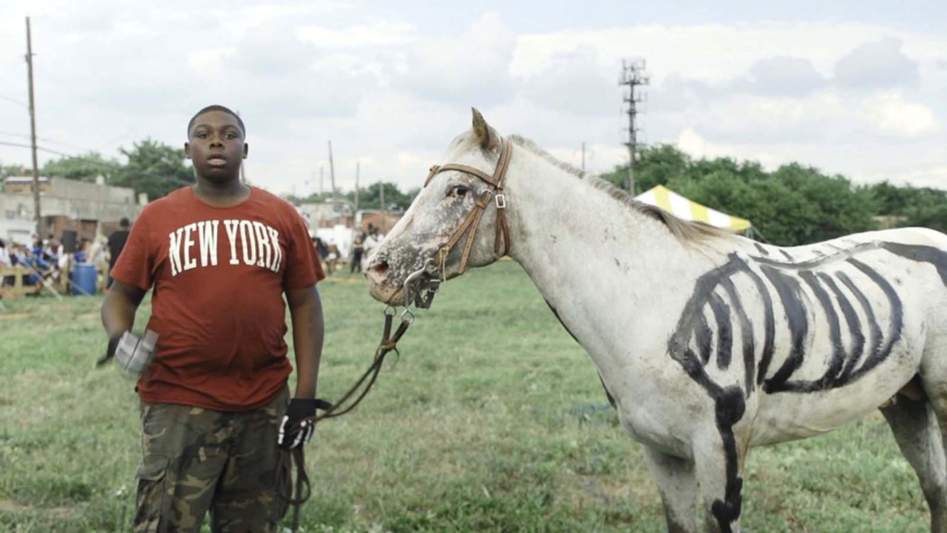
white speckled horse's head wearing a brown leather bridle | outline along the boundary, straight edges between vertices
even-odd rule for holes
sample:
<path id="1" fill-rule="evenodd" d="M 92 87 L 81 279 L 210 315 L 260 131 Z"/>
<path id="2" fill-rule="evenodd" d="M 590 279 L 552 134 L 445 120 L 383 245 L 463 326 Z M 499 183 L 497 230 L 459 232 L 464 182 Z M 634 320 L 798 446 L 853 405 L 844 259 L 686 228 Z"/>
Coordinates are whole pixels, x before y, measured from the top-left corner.
<path id="1" fill-rule="evenodd" d="M 446 163 L 431 168 L 402 220 L 368 258 L 366 277 L 376 299 L 411 304 L 432 280 L 461 275 L 507 252 L 503 186 L 512 147 L 473 111 L 473 129 L 456 137 Z M 405 290 L 412 293 L 408 301 Z"/>

